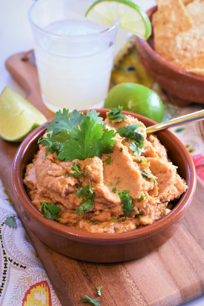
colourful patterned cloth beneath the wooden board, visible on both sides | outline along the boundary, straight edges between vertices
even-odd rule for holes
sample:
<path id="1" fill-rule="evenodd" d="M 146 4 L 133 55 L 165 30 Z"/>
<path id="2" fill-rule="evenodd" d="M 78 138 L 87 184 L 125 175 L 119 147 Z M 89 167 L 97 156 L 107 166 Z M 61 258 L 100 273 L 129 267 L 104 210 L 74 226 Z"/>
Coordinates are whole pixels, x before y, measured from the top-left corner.
<path id="1" fill-rule="evenodd" d="M 202 109 L 193 104 L 181 108 L 170 103 L 159 86 L 144 71 L 135 48 L 126 55 L 112 74 L 115 84 L 137 82 L 156 91 L 165 103 L 165 120 Z M 197 174 L 204 181 L 203 122 L 171 129 L 185 144 L 194 160 Z M 61 306 L 35 250 L 26 234 L 0 181 L 0 305 L 1 306 Z M 17 228 L 6 225 L 14 216 Z"/>

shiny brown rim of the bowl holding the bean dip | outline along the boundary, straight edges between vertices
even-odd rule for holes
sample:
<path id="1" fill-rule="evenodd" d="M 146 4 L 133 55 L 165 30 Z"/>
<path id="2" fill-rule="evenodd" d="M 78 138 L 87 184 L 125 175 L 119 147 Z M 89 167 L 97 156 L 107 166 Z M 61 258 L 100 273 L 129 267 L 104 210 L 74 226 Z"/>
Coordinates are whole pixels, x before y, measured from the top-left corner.
<path id="1" fill-rule="evenodd" d="M 86 110 L 82 111 L 86 112 Z M 100 114 L 105 115 L 108 109 L 96 109 L 96 111 L 100 112 Z M 123 113 L 134 116 L 138 118 L 140 121 L 143 120 L 147 121 L 148 122 L 148 124 L 146 124 L 147 126 L 156 123 L 155 121 L 139 114 L 134 114 L 128 111 L 123 111 Z M 64 224 L 44 218 L 43 214 L 32 204 L 31 200 L 28 198 L 28 195 L 25 192 L 23 179 L 20 173 L 20 168 L 22 166 L 21 165 L 22 157 L 26 154 L 28 147 L 32 145 L 34 141 L 39 139 L 40 136 L 42 136 L 43 132 L 45 131 L 44 126 L 49 122 L 50 121 L 47 121 L 43 125 L 36 128 L 24 139 L 24 141 L 20 144 L 19 149 L 17 150 L 12 165 L 13 188 L 20 205 L 30 216 L 30 218 L 32 218 L 33 220 L 35 220 L 35 222 L 45 227 L 47 230 L 52 231 L 55 234 L 57 233 L 61 236 L 67 237 L 68 239 L 71 240 L 83 241 L 87 243 L 109 244 L 109 243 L 124 243 L 135 240 L 141 240 L 161 232 L 166 227 L 176 222 L 181 217 L 181 215 L 183 215 L 184 211 L 186 211 L 187 207 L 191 203 L 196 187 L 194 163 L 191 159 L 189 152 L 187 151 L 186 147 L 182 144 L 182 142 L 172 132 L 166 130 L 165 131 L 166 137 L 173 138 L 175 146 L 178 146 L 180 148 L 180 151 L 183 152 L 184 162 L 186 163 L 188 169 L 186 174 L 187 175 L 186 180 L 188 184 L 187 191 L 182 195 L 180 201 L 169 215 L 143 228 L 126 233 L 114 233 L 114 234 L 84 232 L 82 230 L 76 230 L 69 226 L 65 226 Z"/>

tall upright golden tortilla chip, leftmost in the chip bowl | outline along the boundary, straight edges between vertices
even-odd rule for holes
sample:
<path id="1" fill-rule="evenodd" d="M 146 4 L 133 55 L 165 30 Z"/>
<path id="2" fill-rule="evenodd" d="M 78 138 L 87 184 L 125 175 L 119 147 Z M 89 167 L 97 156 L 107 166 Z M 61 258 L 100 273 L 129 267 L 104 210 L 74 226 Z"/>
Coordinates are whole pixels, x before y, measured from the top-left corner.
<path id="1" fill-rule="evenodd" d="M 172 40 L 180 32 L 193 26 L 192 18 L 182 0 L 159 1 L 158 10 L 152 18 L 155 51 L 168 61 L 174 58 L 170 52 Z"/>

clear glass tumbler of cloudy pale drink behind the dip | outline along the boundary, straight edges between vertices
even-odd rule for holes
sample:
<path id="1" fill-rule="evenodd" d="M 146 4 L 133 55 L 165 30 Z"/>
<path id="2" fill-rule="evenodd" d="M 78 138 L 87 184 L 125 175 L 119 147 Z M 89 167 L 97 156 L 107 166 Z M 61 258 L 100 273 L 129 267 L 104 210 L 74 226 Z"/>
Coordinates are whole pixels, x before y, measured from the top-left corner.
<path id="1" fill-rule="evenodd" d="M 38 0 L 29 9 L 42 99 L 54 112 L 91 108 L 107 95 L 118 21 L 88 21 L 92 2 Z"/>

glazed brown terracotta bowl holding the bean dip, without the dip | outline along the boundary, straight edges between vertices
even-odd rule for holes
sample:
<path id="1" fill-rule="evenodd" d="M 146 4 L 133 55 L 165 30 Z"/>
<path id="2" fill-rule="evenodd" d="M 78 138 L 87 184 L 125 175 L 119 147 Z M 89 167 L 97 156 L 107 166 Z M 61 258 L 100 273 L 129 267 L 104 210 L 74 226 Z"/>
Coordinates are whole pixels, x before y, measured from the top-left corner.
<path id="1" fill-rule="evenodd" d="M 105 118 L 107 109 L 96 110 Z M 86 111 L 83 111 L 86 113 Z M 138 118 L 146 126 L 155 121 L 138 114 L 123 112 Z M 48 121 L 50 122 L 50 121 Z M 38 150 L 37 141 L 45 132 L 41 125 L 29 134 L 20 145 L 13 161 L 12 179 L 17 200 L 23 217 L 33 233 L 46 245 L 67 256 L 93 262 L 119 262 L 143 256 L 164 244 L 178 229 L 184 212 L 195 193 L 195 167 L 191 156 L 180 140 L 169 131 L 158 132 L 161 143 L 167 148 L 173 164 L 178 166 L 178 173 L 188 185 L 172 212 L 154 224 L 127 233 L 98 234 L 76 230 L 48 220 L 28 198 L 23 177 L 25 168 L 32 161 Z"/>

